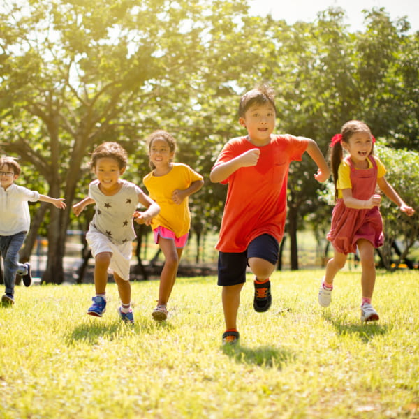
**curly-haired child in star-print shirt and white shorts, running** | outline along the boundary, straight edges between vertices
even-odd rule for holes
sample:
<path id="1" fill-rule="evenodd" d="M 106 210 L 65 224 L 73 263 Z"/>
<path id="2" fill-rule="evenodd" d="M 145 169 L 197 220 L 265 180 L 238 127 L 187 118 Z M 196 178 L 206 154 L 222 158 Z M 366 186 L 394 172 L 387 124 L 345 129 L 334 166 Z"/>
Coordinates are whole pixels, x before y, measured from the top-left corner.
<path id="1" fill-rule="evenodd" d="M 118 313 L 125 323 L 134 323 L 129 282 L 132 241 L 135 222 L 149 224 L 159 214 L 159 205 L 131 182 L 119 179 L 126 170 L 128 155 L 116 142 L 104 142 L 91 154 L 90 167 L 97 179 L 89 185 L 89 196 L 73 205 L 79 216 L 86 205 L 96 203 L 86 240 L 94 256 L 94 286 L 96 295 L 87 310 L 90 316 L 102 317 L 106 310 L 108 268 L 113 270 L 121 306 Z M 147 207 L 136 211 L 138 203 Z"/>

